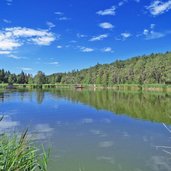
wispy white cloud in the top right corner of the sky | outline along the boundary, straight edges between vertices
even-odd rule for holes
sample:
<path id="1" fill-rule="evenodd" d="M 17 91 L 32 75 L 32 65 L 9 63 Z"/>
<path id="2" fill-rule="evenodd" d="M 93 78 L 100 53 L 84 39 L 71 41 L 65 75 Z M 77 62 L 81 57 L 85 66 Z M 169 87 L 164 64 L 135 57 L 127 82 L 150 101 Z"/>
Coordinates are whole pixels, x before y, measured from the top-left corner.
<path id="1" fill-rule="evenodd" d="M 162 2 L 160 0 L 153 1 L 146 7 L 153 16 L 163 14 L 171 9 L 171 0 Z"/>

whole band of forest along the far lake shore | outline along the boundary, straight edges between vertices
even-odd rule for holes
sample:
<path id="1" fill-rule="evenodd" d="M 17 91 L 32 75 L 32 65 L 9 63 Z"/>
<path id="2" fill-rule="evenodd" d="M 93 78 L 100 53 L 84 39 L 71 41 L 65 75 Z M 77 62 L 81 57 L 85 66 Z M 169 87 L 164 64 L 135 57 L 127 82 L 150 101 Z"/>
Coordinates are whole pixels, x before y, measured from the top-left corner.
<path id="1" fill-rule="evenodd" d="M 0 70 L 0 83 L 17 84 L 164 84 L 171 82 L 171 52 L 116 60 L 111 64 L 97 64 L 80 71 L 35 76 L 21 71 L 14 74 Z"/>

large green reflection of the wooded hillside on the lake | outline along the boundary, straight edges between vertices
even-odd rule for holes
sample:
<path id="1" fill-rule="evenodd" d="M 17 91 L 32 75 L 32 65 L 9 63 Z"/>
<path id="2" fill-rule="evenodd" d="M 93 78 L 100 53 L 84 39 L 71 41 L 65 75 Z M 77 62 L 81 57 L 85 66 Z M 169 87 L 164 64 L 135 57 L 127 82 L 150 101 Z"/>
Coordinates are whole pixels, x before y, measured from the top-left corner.
<path id="1" fill-rule="evenodd" d="M 58 97 L 106 109 L 133 118 L 171 124 L 171 96 L 166 94 L 142 94 L 112 90 L 54 90 Z"/>

